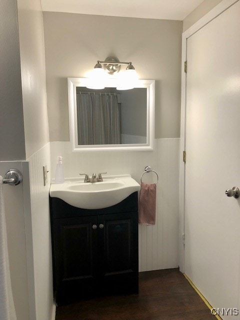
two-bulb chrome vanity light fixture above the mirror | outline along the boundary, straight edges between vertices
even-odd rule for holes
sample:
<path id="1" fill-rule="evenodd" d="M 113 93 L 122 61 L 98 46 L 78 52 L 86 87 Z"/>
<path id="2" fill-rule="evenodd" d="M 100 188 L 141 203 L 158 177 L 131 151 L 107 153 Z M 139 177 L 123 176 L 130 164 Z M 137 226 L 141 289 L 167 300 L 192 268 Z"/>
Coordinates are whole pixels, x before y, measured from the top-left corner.
<path id="1" fill-rule="evenodd" d="M 102 67 L 103 64 L 103 67 Z M 108 74 L 119 72 L 121 65 L 127 64 L 126 69 L 116 76 L 116 89 L 128 90 L 134 88 L 138 79 L 137 73 L 131 62 L 121 62 L 114 56 L 108 56 L 104 61 L 97 60 L 93 70 L 88 76 L 87 88 L 104 89 Z"/>

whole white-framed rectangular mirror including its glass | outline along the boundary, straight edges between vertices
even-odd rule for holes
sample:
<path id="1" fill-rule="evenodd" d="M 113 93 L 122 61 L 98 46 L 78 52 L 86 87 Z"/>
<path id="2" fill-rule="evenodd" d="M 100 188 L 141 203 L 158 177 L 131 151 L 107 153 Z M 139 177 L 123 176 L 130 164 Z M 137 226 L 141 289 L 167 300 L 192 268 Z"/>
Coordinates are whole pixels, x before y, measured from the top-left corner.
<path id="1" fill-rule="evenodd" d="M 116 79 L 102 90 L 88 89 L 87 78 L 67 78 L 72 151 L 152 150 L 155 81 L 138 80 L 116 90 Z"/>

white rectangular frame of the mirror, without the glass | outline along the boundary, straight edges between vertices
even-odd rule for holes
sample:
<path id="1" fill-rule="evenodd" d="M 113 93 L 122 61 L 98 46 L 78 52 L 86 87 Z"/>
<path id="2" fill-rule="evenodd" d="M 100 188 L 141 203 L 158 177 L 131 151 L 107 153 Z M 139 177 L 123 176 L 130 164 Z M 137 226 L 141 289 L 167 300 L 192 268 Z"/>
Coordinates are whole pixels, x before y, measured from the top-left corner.
<path id="1" fill-rule="evenodd" d="M 136 88 L 147 89 L 146 101 L 146 143 L 132 144 L 77 144 L 76 87 L 86 87 L 87 78 L 67 78 L 69 133 L 72 151 L 116 151 L 116 150 L 153 150 L 155 80 L 138 80 Z M 106 87 L 116 87 L 116 79 L 110 78 Z"/>

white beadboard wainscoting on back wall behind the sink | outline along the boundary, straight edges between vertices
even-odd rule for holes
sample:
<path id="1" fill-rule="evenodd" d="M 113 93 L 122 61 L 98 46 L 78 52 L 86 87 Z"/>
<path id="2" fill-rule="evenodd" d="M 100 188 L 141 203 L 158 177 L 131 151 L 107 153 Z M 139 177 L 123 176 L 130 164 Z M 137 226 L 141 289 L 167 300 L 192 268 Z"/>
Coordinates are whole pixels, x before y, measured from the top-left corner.
<path id="1" fill-rule="evenodd" d="M 178 266 L 179 138 L 154 139 L 153 151 L 72 152 L 69 141 L 50 142 L 50 150 L 52 177 L 57 155 L 63 156 L 65 177 L 107 171 L 128 173 L 140 183 L 144 167 L 150 165 L 159 176 L 156 224 L 139 225 L 139 271 Z M 146 173 L 142 180 L 154 183 L 156 176 Z"/>

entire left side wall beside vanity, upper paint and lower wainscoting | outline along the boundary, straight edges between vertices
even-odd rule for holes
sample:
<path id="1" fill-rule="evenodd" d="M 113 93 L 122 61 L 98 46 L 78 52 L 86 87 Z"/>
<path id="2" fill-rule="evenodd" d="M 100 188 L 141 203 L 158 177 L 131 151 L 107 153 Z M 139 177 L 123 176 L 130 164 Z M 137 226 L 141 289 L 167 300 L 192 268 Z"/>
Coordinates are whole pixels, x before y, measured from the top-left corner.
<path id="1" fill-rule="evenodd" d="M 40 0 L 17 0 L 26 160 L 29 164 L 30 206 L 26 240 L 29 276 L 29 320 L 51 319 L 51 237 L 48 183 L 43 186 L 43 165 L 50 170 L 46 107 L 45 55 Z M 27 174 L 27 172 L 25 172 Z M 50 177 L 50 172 L 48 173 Z"/>

